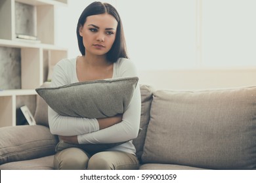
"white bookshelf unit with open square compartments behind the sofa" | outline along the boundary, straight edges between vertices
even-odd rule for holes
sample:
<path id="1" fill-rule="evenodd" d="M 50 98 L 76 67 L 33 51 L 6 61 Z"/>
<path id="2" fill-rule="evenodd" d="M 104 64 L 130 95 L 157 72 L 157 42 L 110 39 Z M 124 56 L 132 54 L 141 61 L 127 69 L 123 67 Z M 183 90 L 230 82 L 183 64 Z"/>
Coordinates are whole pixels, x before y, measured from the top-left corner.
<path id="1" fill-rule="evenodd" d="M 30 5 L 35 9 L 34 29 L 37 41 L 17 38 L 16 3 Z M 20 49 L 21 80 L 20 89 L 5 90 L 0 86 L 0 127 L 17 124 L 17 100 L 23 96 L 35 98 L 37 95 L 35 88 L 47 80 L 49 68 L 60 59 L 67 57 L 66 48 L 58 48 L 54 45 L 54 7 L 62 5 L 68 5 L 68 0 L 0 1 L 0 25 L 3 25 L 0 29 L 0 47 Z M 26 102 L 24 104 L 26 105 Z"/>

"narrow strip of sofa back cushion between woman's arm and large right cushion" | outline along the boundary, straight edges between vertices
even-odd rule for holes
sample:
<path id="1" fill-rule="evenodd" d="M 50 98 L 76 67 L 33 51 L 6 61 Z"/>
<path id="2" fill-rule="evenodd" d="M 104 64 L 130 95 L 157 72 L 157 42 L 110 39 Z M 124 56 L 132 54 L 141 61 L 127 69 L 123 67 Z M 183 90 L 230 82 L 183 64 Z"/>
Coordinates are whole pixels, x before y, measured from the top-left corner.
<path id="1" fill-rule="evenodd" d="M 133 144 L 137 150 L 137 157 L 141 158 L 144 141 L 146 138 L 146 131 L 148 129 L 148 122 L 150 120 L 150 107 L 153 99 L 154 89 L 148 85 L 140 85 L 141 95 L 141 114 L 140 114 L 140 132 L 136 139 L 133 139 Z"/>

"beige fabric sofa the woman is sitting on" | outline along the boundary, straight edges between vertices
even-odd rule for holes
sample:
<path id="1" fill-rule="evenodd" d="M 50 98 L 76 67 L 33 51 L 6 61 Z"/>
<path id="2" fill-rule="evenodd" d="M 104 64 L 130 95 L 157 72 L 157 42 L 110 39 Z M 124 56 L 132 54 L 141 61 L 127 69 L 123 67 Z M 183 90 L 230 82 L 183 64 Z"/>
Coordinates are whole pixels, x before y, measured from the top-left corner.
<path id="1" fill-rule="evenodd" d="M 256 169 L 256 87 L 140 91 L 140 169 Z M 58 137 L 40 97 L 35 120 L 0 128 L 0 169 L 53 169 Z"/>

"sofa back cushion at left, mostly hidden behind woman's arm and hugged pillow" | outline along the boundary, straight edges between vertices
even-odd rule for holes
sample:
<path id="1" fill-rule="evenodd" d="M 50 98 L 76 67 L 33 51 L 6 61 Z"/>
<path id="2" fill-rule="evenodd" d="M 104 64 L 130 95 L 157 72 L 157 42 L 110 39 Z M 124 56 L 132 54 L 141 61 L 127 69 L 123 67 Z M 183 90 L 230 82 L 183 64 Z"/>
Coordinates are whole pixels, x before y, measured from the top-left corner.
<path id="1" fill-rule="evenodd" d="M 44 82 L 41 88 L 51 87 L 51 82 Z M 48 105 L 45 100 L 37 95 L 37 105 L 35 108 L 35 122 L 37 125 L 44 125 L 49 127 L 48 122 Z"/>

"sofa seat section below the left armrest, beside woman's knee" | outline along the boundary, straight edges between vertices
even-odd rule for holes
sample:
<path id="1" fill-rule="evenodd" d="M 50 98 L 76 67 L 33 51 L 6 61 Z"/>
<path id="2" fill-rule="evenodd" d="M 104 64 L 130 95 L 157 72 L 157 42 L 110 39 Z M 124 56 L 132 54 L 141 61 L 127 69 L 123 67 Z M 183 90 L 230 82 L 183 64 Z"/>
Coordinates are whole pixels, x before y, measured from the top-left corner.
<path id="1" fill-rule="evenodd" d="M 54 155 L 5 163 L 0 165 L 0 170 L 53 170 L 53 158 Z"/>

